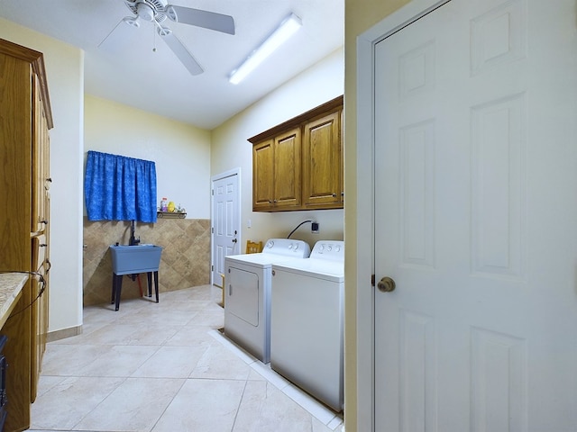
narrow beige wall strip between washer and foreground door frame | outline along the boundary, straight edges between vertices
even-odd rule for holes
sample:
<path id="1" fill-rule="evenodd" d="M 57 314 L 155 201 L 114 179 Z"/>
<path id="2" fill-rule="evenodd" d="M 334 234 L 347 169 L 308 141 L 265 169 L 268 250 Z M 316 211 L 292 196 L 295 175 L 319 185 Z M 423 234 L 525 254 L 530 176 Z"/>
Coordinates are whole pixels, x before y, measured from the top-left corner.
<path id="1" fill-rule="evenodd" d="M 386 16 L 396 11 L 408 0 L 345 0 L 345 60 L 344 67 L 344 153 L 345 164 L 344 193 L 347 205 L 344 211 L 345 229 L 345 429 L 347 432 L 357 431 L 359 407 L 357 405 L 357 373 L 362 367 L 371 365 L 357 365 L 357 52 L 356 40 L 364 31 L 382 21 Z M 369 276 L 369 275 L 368 275 Z M 365 289 L 367 287 L 360 287 Z M 359 430 L 359 432 L 362 432 Z"/>

